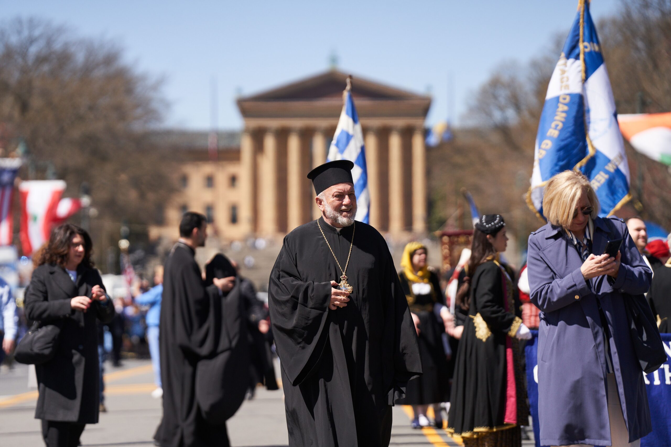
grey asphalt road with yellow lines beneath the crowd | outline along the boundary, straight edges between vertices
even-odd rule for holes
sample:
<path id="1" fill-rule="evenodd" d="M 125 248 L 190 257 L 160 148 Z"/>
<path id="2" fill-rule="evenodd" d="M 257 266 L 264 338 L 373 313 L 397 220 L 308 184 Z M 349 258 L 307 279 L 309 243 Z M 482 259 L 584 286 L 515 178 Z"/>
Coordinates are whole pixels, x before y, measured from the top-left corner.
<path id="1" fill-rule="evenodd" d="M 105 369 L 105 404 L 99 424 L 87 426 L 84 446 L 153 446 L 152 437 L 160 421 L 161 401 L 154 389 L 149 361 L 127 360 L 123 367 Z M 28 388 L 28 367 L 15 365 L 0 370 L 0 446 L 43 446 L 40 421 L 34 419 L 37 391 Z M 392 446 L 456 446 L 444 430 L 409 426 L 409 409 L 394 407 Z M 228 423 L 233 446 L 287 446 L 282 391 L 258 388 L 256 397 L 243 403 Z M 533 445 L 532 442 L 525 442 Z"/>

